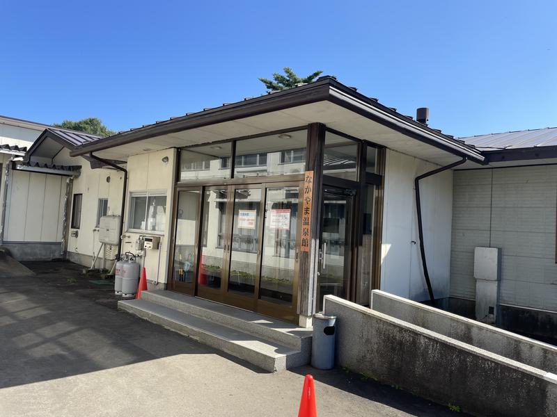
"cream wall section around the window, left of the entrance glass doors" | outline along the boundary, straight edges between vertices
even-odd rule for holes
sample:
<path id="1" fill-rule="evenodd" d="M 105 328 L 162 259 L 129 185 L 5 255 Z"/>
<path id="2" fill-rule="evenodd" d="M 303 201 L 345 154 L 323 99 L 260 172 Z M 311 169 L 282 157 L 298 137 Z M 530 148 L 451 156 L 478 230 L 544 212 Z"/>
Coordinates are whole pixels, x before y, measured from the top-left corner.
<path id="1" fill-rule="evenodd" d="M 163 162 L 164 157 L 168 157 L 168 162 Z M 175 149 L 164 149 L 162 151 L 150 152 L 148 154 L 130 156 L 127 161 L 128 187 L 127 202 L 125 213 L 125 224 L 122 252 L 132 252 L 136 254 L 135 243 L 141 235 L 160 236 L 161 243 L 159 250 L 146 250 L 145 257 L 139 259 L 146 268 L 148 281 L 166 282 L 166 272 L 168 267 L 169 237 L 171 233 L 171 215 L 173 207 L 173 187 L 175 176 Z M 166 193 L 166 220 L 163 233 L 153 231 L 130 231 L 128 219 L 130 218 L 130 195 L 132 193 L 157 192 Z"/>

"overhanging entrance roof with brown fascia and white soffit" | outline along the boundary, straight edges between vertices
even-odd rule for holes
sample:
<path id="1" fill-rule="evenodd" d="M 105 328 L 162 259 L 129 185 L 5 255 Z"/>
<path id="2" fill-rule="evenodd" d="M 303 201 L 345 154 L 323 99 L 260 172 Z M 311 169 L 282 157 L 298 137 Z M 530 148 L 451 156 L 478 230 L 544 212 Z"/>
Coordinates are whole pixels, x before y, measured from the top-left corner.
<path id="1" fill-rule="evenodd" d="M 291 114 L 292 111 L 295 114 Z M 268 120 L 268 117 L 274 115 L 276 120 Z M 359 120 L 358 126 L 355 126 L 356 123 L 351 124 L 356 119 Z M 368 122 L 363 122 L 364 119 Z M 196 113 L 186 113 L 146 124 L 80 145 L 70 154 L 80 156 L 100 152 L 103 158 L 127 158 L 133 154 L 132 152 L 141 152 L 140 149 L 147 152 L 168 147 L 199 145 L 299 127 L 313 122 L 324 123 L 327 126 L 331 124 L 332 129 L 345 131 L 356 137 L 363 134 L 363 139 L 378 145 L 393 145 L 393 149 L 410 152 L 418 158 L 427 159 L 427 156 L 434 154 L 433 160 L 439 163 L 448 161 L 453 156 L 465 156 L 479 163 L 484 160 L 477 149 L 466 145 L 462 140 L 402 115 L 395 108 L 362 95 L 331 76 L 322 76 L 313 83 L 288 90 L 249 97 L 235 103 L 224 103 L 215 108 L 204 108 Z M 334 126 L 335 124 L 338 126 Z M 274 129 L 270 126 L 274 126 Z M 346 131 L 347 129 L 353 132 Z M 393 135 L 394 132 L 398 132 L 398 135 Z M 141 142 L 141 145 L 132 147 L 134 142 Z"/>

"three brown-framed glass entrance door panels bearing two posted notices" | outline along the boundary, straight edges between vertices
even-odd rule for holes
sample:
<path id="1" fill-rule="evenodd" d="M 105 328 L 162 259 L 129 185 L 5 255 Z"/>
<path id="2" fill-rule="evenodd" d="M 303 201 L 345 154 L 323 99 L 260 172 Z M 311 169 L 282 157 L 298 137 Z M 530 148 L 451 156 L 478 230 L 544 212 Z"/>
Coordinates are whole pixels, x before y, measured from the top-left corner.
<path id="1" fill-rule="evenodd" d="M 297 320 L 300 183 L 205 187 L 196 295 Z"/>

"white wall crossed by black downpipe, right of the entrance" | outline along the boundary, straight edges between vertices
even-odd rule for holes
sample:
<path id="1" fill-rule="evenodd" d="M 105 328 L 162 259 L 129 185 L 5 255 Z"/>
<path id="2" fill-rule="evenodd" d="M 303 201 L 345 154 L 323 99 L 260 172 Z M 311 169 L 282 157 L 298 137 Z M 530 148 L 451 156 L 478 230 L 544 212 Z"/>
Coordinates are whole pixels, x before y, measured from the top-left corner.
<path id="1" fill-rule="evenodd" d="M 416 301 L 429 300 L 423 277 L 414 179 L 438 165 L 386 151 L 381 289 Z M 427 266 L 436 298 L 448 297 L 453 172 L 420 181 Z"/>

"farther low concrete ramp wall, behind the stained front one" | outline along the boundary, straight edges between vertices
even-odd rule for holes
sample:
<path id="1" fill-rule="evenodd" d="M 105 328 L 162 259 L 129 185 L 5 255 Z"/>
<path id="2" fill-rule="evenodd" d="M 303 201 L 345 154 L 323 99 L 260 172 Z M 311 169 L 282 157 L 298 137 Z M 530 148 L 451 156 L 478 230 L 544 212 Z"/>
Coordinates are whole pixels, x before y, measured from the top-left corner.
<path id="1" fill-rule="evenodd" d="M 371 309 L 468 343 L 480 349 L 557 374 L 557 347 L 374 290 Z"/>

